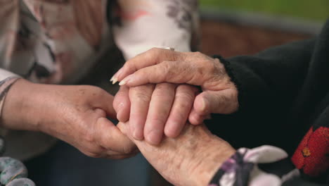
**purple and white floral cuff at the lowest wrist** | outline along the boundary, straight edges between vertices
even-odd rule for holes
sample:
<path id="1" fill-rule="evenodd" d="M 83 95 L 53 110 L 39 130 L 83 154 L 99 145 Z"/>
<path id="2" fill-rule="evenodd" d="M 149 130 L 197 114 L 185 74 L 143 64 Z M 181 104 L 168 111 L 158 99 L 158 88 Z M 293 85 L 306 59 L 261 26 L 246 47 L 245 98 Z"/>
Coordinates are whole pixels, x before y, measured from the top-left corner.
<path id="1" fill-rule="evenodd" d="M 241 148 L 223 163 L 209 186 L 278 186 L 299 177 L 299 171 L 288 163 L 288 154 L 278 147 L 264 145 L 254 149 Z"/>

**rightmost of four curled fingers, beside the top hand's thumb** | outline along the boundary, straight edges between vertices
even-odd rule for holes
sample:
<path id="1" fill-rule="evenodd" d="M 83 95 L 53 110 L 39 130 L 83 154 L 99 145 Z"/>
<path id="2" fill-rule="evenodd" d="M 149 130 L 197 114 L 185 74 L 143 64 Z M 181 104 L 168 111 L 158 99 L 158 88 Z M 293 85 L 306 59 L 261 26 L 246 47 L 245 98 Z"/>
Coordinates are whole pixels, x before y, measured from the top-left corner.
<path id="1" fill-rule="evenodd" d="M 191 112 L 197 92 L 198 88 L 191 85 L 176 87 L 172 110 L 164 126 L 164 134 L 167 137 L 177 137 L 180 134 Z"/>

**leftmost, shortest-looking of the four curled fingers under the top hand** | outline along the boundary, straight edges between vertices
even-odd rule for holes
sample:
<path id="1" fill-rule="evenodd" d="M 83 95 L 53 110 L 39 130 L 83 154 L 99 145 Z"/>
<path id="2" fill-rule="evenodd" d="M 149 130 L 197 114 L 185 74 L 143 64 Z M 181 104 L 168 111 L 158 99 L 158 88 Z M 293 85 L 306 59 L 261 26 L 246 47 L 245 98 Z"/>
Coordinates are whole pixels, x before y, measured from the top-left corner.
<path id="1" fill-rule="evenodd" d="M 127 120 L 129 120 L 129 114 L 130 114 L 129 87 L 126 86 L 120 87 L 119 92 L 115 94 L 113 107 L 117 112 L 117 120 L 120 120 L 121 122 L 126 122 Z"/>

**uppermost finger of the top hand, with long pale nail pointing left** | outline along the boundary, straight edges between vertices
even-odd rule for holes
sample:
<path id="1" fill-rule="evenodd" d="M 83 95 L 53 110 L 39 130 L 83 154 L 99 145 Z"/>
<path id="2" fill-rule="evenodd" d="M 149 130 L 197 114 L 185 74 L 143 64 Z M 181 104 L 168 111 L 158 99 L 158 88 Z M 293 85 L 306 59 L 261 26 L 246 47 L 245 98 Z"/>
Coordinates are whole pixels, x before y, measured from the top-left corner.
<path id="1" fill-rule="evenodd" d="M 124 66 L 115 73 L 111 80 L 113 82 L 121 81 L 124 77 L 134 73 L 136 70 L 162 63 L 162 61 L 176 61 L 179 58 L 183 58 L 183 56 L 183 53 L 176 51 L 153 48 L 124 63 Z"/>

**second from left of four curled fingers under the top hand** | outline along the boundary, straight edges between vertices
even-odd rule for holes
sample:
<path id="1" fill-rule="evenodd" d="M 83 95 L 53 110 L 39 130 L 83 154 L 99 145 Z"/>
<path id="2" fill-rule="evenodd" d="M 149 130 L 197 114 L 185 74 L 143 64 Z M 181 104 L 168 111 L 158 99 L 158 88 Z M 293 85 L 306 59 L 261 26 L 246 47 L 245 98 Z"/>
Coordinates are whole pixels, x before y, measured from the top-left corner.
<path id="1" fill-rule="evenodd" d="M 148 107 L 152 97 L 154 85 L 142 85 L 129 89 L 131 103 L 129 126 L 132 136 L 136 140 L 143 140 L 144 125 L 148 116 Z"/>

